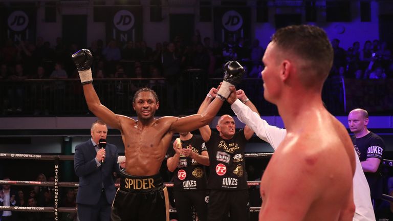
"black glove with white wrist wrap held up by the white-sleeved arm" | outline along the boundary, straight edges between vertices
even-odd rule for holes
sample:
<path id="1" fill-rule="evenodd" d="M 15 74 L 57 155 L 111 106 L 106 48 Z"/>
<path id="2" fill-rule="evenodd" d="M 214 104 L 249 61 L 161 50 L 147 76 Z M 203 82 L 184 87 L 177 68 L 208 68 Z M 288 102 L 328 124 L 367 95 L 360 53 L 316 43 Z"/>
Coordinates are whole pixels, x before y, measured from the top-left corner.
<path id="1" fill-rule="evenodd" d="M 237 61 L 228 61 L 224 66 L 224 80 L 217 95 L 225 100 L 231 94 L 229 86 L 236 86 L 243 79 L 244 68 Z"/>

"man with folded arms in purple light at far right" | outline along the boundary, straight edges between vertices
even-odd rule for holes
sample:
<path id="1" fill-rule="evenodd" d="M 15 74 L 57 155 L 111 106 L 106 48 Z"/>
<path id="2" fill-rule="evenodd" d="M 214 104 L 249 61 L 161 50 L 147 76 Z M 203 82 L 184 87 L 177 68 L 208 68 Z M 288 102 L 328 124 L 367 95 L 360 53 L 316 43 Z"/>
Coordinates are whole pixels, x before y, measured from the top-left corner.
<path id="1" fill-rule="evenodd" d="M 375 208 L 383 190 L 381 168 L 385 144 L 380 136 L 367 129 L 367 125 L 368 113 L 365 109 L 353 109 L 348 115 L 348 126 L 354 133 L 352 143 L 366 175 Z"/>

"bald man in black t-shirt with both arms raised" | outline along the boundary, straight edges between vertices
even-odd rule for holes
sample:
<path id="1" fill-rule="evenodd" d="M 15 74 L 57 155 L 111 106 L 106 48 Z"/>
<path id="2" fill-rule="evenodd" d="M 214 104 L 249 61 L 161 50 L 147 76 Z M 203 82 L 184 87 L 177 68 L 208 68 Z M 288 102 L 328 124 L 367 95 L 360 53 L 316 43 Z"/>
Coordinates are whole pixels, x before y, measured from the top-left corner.
<path id="1" fill-rule="evenodd" d="M 202 103 L 199 113 L 216 96 L 216 89 L 211 89 Z M 246 143 L 254 131 L 245 126 L 236 131 L 233 118 L 223 115 L 216 125 L 219 134 L 210 127 L 200 128 L 206 143 L 210 161 L 210 173 L 207 188 L 210 189 L 208 203 L 208 221 L 226 220 L 230 213 L 231 220 L 249 220 L 249 195 L 245 168 Z"/>

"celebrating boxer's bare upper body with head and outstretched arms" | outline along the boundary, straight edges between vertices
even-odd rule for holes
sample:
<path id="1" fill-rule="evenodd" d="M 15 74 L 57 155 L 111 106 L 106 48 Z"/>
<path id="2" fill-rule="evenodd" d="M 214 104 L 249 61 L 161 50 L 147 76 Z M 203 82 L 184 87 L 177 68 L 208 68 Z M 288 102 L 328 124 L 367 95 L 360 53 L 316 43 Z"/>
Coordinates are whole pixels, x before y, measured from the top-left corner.
<path id="1" fill-rule="evenodd" d="M 83 85 L 83 94 L 89 110 L 96 117 L 120 130 L 126 158 L 125 171 L 141 176 L 159 173 L 174 132 L 188 132 L 207 125 L 223 104 L 220 99 L 214 99 L 206 104 L 203 114 L 155 119 L 159 108 L 158 97 L 154 91 L 144 88 L 137 92 L 133 101 L 139 119 L 135 121 L 116 115 L 102 105 L 92 84 Z"/>

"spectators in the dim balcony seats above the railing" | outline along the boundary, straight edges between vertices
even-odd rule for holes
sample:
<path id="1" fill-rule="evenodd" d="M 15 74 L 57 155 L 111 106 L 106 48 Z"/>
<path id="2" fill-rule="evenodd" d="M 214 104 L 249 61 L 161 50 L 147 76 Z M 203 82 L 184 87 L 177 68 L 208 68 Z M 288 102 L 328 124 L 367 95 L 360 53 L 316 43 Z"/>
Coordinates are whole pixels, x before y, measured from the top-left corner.
<path id="1" fill-rule="evenodd" d="M 361 48 L 361 43 L 355 41 L 347 50 L 339 44 L 339 39 L 332 40 L 335 56 L 332 75 L 393 78 L 391 51 L 386 42 L 367 40 Z M 75 78 L 77 72 L 71 55 L 84 47 L 74 43 L 66 45 L 60 37 L 53 47 L 42 37 L 37 37 L 36 42 L 8 39 L 0 46 L 0 79 Z M 94 40 L 88 49 L 96 61 L 94 74 L 97 78 L 167 77 L 168 64 L 163 60 L 167 55 L 177 61 L 170 65 L 179 71 L 202 69 L 207 77 L 221 77 L 222 65 L 228 60 L 241 61 L 247 69 L 246 77 L 259 77 L 263 69 L 264 48 L 257 39 L 250 42 L 229 36 L 225 42 L 219 42 L 209 37 L 202 39 L 199 31 L 191 39 L 178 36 L 170 42 L 157 42 L 154 49 L 144 40 L 120 43 L 115 39 L 106 44 L 101 39 Z M 119 73 L 119 69 L 124 72 Z"/>

